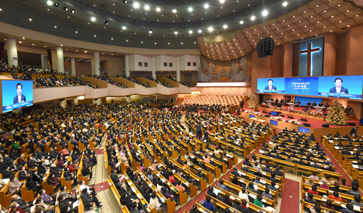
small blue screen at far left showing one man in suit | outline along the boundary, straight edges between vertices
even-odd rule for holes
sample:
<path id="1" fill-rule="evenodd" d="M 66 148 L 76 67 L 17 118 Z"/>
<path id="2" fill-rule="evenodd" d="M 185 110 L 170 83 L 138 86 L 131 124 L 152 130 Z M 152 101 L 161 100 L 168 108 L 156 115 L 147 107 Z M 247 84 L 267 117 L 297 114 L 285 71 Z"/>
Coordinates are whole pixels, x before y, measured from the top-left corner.
<path id="1" fill-rule="evenodd" d="M 3 80 L 2 112 L 33 105 L 33 81 Z"/>

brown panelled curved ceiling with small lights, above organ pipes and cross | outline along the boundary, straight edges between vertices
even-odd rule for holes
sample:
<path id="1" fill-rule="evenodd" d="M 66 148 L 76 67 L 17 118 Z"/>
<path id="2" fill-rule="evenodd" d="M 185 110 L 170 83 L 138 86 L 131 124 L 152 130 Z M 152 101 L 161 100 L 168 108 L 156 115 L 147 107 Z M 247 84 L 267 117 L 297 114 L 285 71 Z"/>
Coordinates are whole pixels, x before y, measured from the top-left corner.
<path id="1" fill-rule="evenodd" d="M 282 16 L 229 33 L 198 37 L 201 54 L 214 60 L 240 58 L 270 37 L 276 45 L 298 42 L 326 33 L 345 32 L 363 23 L 363 10 L 349 0 L 312 0 Z"/>

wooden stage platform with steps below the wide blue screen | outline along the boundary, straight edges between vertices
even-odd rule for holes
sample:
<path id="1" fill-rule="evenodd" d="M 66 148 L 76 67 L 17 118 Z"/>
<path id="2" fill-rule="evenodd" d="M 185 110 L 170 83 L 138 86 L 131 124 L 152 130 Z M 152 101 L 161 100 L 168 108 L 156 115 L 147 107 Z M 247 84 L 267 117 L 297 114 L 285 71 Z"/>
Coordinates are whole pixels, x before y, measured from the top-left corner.
<path id="1" fill-rule="evenodd" d="M 329 127 L 322 127 L 322 124 L 325 124 L 326 122 L 324 120 L 319 120 L 319 119 L 314 119 L 314 118 L 308 118 L 306 117 L 307 115 L 301 114 L 301 116 L 296 116 L 296 115 L 288 115 L 285 114 L 285 111 L 282 111 L 282 113 L 280 115 L 283 115 L 285 117 L 282 117 L 284 120 L 286 120 L 286 122 L 284 122 L 283 120 L 279 120 L 279 119 L 273 119 L 276 116 L 270 116 L 270 118 L 265 117 L 265 115 L 268 115 L 268 113 L 271 113 L 271 110 L 267 110 L 268 108 L 265 109 L 247 109 L 244 108 L 243 110 L 245 111 L 250 111 L 252 115 L 255 116 L 255 118 L 259 118 L 262 120 L 266 120 L 266 123 L 268 123 L 270 126 L 276 126 L 278 128 L 281 129 L 285 129 L 285 127 L 287 127 L 287 129 L 292 130 L 292 128 L 295 128 L 296 131 L 299 130 L 299 127 L 304 127 L 305 129 L 309 129 L 309 133 L 313 133 L 316 137 L 319 136 L 320 134 L 322 135 L 328 135 L 329 132 L 331 133 L 336 133 L 337 131 L 340 133 L 340 135 L 344 135 L 345 133 L 350 132 L 351 128 L 353 128 L 353 126 L 337 126 L 337 125 L 330 125 Z M 257 112 L 258 111 L 258 112 Z M 266 113 L 262 113 L 262 111 L 265 111 Z M 276 111 L 276 110 L 272 110 L 272 111 Z M 259 115 L 255 115 L 255 113 L 259 114 Z M 289 113 L 289 112 L 286 112 Z M 241 112 L 241 117 L 245 118 L 246 120 L 250 121 L 250 113 L 246 113 L 246 112 Z M 287 116 L 290 116 L 292 118 L 287 118 Z M 301 118 L 305 118 L 307 119 L 307 121 L 301 121 Z M 321 117 L 316 117 L 316 118 L 321 118 Z M 273 125 L 270 123 L 270 120 L 275 120 L 277 121 L 277 125 Z M 297 120 L 299 124 L 294 124 L 294 123 L 289 123 L 289 120 Z M 359 120 L 356 119 L 351 119 L 351 120 L 347 120 L 347 123 L 355 123 L 355 126 L 359 126 Z M 311 126 L 307 127 L 304 126 L 303 123 L 309 123 Z M 358 128 L 358 134 L 363 134 L 363 127 Z"/>

